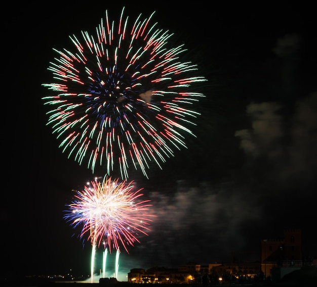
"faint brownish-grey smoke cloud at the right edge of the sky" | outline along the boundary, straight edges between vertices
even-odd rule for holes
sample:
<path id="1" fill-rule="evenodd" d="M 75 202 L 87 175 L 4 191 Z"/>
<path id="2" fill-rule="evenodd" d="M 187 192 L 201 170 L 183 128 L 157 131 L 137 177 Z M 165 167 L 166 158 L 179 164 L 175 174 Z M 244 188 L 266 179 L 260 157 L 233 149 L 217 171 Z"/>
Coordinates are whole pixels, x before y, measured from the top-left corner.
<path id="1" fill-rule="evenodd" d="M 251 158 L 265 157 L 283 186 L 313 178 L 317 167 L 317 93 L 295 103 L 293 116 L 281 114 L 278 103 L 250 104 L 247 113 L 251 129 L 236 131 L 241 148 Z M 288 122 L 286 122 L 288 121 Z"/>

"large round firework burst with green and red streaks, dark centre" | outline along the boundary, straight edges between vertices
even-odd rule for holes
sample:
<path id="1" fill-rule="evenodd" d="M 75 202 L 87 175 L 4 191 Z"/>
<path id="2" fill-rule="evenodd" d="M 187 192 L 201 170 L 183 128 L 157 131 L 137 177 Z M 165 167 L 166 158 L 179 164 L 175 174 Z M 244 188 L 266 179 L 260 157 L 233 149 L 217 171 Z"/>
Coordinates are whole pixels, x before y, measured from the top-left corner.
<path id="1" fill-rule="evenodd" d="M 115 27 L 106 12 L 95 36 L 82 31 L 70 36 L 72 50 L 54 49 L 55 82 L 43 84 L 52 92 L 43 98 L 47 124 L 62 151 L 93 172 L 101 166 L 127 179 L 134 167 L 148 177 L 152 162 L 162 168 L 194 136 L 194 105 L 205 97 L 196 88 L 206 79 L 181 61 L 183 44 L 170 47 L 172 33 L 150 24 L 153 14 L 129 25 L 123 8 Z"/>

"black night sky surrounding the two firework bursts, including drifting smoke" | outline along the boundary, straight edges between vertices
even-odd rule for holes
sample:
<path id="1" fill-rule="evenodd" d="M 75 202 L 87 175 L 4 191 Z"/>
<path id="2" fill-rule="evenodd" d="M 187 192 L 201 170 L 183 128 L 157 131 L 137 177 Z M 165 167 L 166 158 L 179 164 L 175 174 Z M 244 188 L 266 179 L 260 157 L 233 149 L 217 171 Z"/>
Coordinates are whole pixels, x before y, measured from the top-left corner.
<path id="1" fill-rule="evenodd" d="M 90 273 L 91 245 L 72 236 L 63 211 L 72 189 L 105 171 L 92 174 L 58 148 L 46 126 L 41 99 L 48 91 L 41 85 L 52 81 L 53 48 L 71 46 L 68 36 L 81 30 L 94 33 L 106 9 L 117 20 L 124 3 L 48 3 L 17 4 L 2 19 L 5 275 Z M 126 5 L 132 19 L 156 11 L 153 21 L 186 45 L 208 82 L 187 149 L 162 170 L 153 167 L 149 179 L 131 171 L 156 217 L 148 236 L 122 252 L 120 272 L 259 261 L 261 239 L 283 237 L 285 228 L 301 228 L 303 256 L 317 256 L 312 4 L 195 5 Z"/>

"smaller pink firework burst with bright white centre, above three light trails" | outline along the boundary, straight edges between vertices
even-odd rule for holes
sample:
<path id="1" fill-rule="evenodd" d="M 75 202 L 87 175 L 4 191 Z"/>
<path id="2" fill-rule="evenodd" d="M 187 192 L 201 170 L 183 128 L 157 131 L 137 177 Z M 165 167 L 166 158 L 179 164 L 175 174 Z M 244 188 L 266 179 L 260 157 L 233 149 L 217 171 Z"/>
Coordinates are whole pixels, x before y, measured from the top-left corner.
<path id="1" fill-rule="evenodd" d="M 137 236 L 147 235 L 151 217 L 149 200 L 141 201 L 140 190 L 133 191 L 132 182 L 118 182 L 111 177 L 92 181 L 77 191 L 75 200 L 67 205 L 64 219 L 73 228 L 80 227 L 80 237 L 87 235 L 92 246 L 118 250 L 139 242 Z"/>

